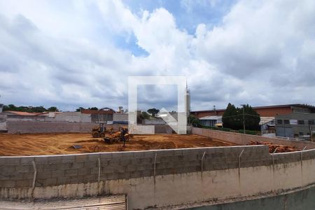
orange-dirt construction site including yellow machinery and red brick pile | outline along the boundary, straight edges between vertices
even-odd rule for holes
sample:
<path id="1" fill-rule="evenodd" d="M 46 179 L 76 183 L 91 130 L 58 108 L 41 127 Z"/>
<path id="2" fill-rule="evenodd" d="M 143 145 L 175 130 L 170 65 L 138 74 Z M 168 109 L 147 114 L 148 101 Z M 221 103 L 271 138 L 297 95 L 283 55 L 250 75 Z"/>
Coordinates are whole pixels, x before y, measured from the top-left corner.
<path id="1" fill-rule="evenodd" d="M 128 134 L 127 127 L 106 131 L 104 125 L 90 133 L 6 134 L 0 133 L 0 155 L 64 155 L 78 153 L 149 151 L 174 148 L 240 146 L 235 142 L 197 134 Z M 250 141 L 245 145 L 267 145 L 269 153 L 300 151 L 295 146 Z"/>

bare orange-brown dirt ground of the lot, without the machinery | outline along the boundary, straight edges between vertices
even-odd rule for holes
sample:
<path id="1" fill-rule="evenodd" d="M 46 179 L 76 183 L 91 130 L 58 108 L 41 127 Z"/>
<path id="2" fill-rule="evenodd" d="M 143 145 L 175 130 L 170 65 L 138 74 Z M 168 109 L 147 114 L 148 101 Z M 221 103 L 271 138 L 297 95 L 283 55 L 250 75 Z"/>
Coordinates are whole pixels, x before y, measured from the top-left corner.
<path id="1" fill-rule="evenodd" d="M 75 149 L 73 145 L 82 148 Z M 0 155 L 57 155 L 108 151 L 146 151 L 168 148 L 234 146 L 235 144 L 201 137 L 195 134 L 134 135 L 123 147 L 123 142 L 105 144 L 91 134 L 1 134 Z"/>

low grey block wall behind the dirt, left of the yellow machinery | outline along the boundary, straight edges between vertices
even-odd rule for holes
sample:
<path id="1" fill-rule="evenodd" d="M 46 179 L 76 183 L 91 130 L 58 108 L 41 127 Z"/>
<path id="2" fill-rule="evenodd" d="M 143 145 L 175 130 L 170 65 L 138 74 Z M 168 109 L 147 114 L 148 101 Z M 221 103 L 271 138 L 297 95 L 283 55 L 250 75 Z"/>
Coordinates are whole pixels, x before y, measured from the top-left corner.
<path id="1" fill-rule="evenodd" d="M 10 121 L 8 133 L 91 132 L 94 123 Z"/>

